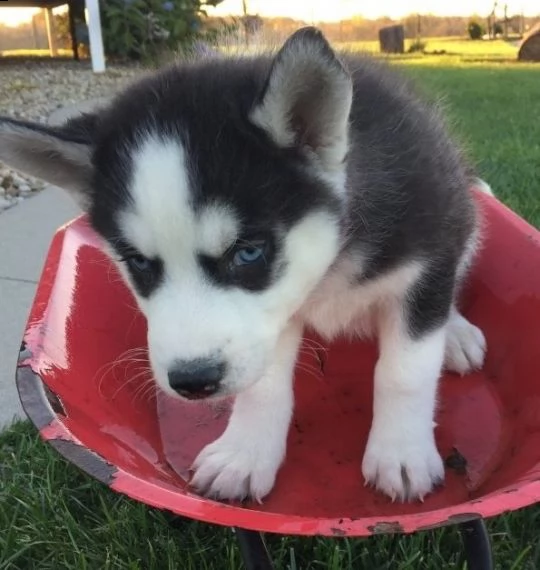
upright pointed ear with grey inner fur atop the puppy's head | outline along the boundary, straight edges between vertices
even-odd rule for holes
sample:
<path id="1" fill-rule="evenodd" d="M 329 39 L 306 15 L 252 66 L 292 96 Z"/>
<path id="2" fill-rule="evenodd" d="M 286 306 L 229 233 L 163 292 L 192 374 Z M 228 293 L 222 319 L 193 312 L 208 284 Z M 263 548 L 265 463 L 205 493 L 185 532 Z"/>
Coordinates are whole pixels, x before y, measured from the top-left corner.
<path id="1" fill-rule="evenodd" d="M 316 28 L 295 32 L 276 55 L 251 120 L 279 146 L 311 151 L 329 170 L 347 154 L 352 81 Z"/>

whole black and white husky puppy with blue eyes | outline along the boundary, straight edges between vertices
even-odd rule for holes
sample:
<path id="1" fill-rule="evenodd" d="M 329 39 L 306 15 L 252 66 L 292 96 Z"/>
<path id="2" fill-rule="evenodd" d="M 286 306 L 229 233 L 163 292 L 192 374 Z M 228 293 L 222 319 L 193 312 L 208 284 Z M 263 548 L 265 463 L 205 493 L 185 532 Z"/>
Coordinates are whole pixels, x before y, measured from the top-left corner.
<path id="1" fill-rule="evenodd" d="M 157 384 L 236 396 L 194 488 L 271 491 L 305 327 L 379 340 L 365 481 L 414 500 L 443 480 L 441 370 L 486 347 L 456 306 L 479 222 L 471 169 L 397 72 L 304 28 L 275 55 L 175 64 L 61 128 L 2 119 L 0 160 L 88 212 L 147 318 Z"/>

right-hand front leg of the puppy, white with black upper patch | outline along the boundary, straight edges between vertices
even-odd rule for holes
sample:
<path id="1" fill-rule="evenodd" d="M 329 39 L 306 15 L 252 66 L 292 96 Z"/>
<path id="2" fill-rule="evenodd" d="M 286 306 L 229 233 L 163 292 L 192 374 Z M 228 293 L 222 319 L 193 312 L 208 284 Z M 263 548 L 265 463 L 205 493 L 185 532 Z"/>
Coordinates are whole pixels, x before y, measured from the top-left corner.
<path id="1" fill-rule="evenodd" d="M 434 415 L 452 286 L 442 272 L 424 275 L 405 299 L 382 311 L 373 422 L 362 472 L 366 483 L 392 500 L 421 500 L 444 478 Z"/>

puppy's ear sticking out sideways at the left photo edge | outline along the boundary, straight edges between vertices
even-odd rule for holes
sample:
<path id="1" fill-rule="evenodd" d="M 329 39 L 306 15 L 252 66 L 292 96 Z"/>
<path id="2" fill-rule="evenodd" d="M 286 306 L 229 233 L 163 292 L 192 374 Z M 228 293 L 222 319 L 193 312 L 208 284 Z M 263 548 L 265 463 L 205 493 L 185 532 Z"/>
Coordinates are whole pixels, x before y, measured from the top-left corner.
<path id="1" fill-rule="evenodd" d="M 93 123 L 88 117 L 77 121 L 53 128 L 0 117 L 0 161 L 64 188 L 87 209 Z"/>

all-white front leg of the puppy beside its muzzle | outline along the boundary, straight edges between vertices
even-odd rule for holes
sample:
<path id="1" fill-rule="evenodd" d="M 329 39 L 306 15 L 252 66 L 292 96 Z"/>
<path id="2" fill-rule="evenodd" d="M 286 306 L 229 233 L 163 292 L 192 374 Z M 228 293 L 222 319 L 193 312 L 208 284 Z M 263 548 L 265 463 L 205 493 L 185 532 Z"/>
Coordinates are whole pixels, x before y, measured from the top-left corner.
<path id="1" fill-rule="evenodd" d="M 223 435 L 194 462 L 191 485 L 217 499 L 261 501 L 285 458 L 293 409 L 293 372 L 302 327 L 290 324 L 266 374 L 234 402 Z"/>

